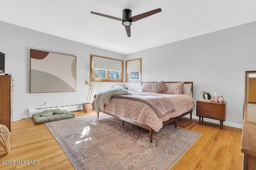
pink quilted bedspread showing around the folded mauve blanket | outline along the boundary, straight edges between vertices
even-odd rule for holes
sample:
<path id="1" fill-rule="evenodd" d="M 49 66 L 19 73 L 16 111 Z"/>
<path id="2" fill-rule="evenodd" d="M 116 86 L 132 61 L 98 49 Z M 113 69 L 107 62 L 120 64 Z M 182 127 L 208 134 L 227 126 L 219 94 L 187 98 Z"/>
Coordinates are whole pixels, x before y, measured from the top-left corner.
<path id="1" fill-rule="evenodd" d="M 147 93 L 154 94 L 140 91 L 132 92 L 132 94 L 143 95 L 146 95 Z M 182 115 L 194 107 L 194 100 L 190 95 L 159 94 L 159 96 L 162 95 L 164 95 L 165 98 L 168 98 L 174 107 L 174 111 L 165 113 L 162 117 L 159 117 L 149 104 L 123 98 L 111 98 L 109 104 L 105 105 L 104 111 L 115 115 L 121 115 L 128 119 L 134 119 L 137 123 L 148 125 L 157 132 L 162 128 L 163 121 Z"/>

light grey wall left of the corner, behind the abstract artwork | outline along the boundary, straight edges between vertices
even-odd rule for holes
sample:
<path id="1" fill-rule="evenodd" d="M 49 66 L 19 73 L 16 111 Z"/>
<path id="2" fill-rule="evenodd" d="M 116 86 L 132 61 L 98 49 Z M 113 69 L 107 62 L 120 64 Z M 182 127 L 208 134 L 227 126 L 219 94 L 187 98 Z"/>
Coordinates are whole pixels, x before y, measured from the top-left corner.
<path id="1" fill-rule="evenodd" d="M 54 29 L 54 28 L 53 28 Z M 30 49 L 75 55 L 76 92 L 30 94 Z M 82 104 L 86 101 L 88 87 L 85 80 L 90 75 L 90 54 L 124 60 L 125 55 L 90 45 L 77 43 L 46 33 L 0 21 L 0 51 L 5 53 L 6 73 L 14 77 L 14 117 L 27 117 L 28 108 Z M 58 64 L 58 63 L 56 63 Z M 64 73 L 65 74 L 65 73 Z M 124 83 L 100 82 L 92 94 Z M 92 100 L 91 100 L 92 101 Z"/>

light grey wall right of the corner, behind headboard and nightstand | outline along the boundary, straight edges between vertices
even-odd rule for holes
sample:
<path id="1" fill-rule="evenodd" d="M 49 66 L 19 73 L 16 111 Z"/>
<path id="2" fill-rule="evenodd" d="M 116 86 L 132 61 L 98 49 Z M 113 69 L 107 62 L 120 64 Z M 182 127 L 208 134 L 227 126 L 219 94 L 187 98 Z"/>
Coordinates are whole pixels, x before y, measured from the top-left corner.
<path id="1" fill-rule="evenodd" d="M 256 22 L 252 22 L 128 54 L 126 60 L 142 57 L 142 82 L 193 81 L 195 102 L 202 98 L 202 91 L 224 96 L 224 124 L 241 127 L 244 71 L 256 70 L 255 30 Z M 140 83 L 126 86 L 138 89 Z"/>

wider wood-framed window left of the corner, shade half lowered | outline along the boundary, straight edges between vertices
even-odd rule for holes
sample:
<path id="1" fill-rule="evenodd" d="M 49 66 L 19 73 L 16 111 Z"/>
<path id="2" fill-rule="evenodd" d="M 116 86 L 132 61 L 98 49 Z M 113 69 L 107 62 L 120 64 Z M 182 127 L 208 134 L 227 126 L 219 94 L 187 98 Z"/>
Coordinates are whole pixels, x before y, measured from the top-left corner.
<path id="1" fill-rule="evenodd" d="M 96 72 L 102 82 L 124 82 L 124 61 L 90 55 L 90 81 L 93 81 L 92 72 Z"/>

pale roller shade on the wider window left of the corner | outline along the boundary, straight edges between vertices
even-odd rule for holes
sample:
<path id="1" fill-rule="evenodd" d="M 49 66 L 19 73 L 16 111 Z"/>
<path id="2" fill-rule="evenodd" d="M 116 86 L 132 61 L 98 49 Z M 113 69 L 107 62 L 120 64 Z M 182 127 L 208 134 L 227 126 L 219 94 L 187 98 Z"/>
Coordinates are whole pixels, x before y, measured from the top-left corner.
<path id="1" fill-rule="evenodd" d="M 92 68 L 122 71 L 122 61 L 93 57 Z"/>

